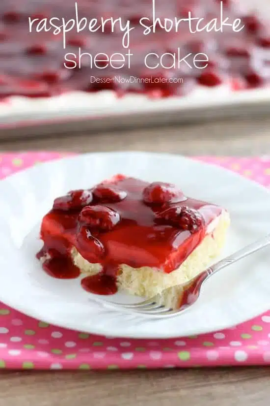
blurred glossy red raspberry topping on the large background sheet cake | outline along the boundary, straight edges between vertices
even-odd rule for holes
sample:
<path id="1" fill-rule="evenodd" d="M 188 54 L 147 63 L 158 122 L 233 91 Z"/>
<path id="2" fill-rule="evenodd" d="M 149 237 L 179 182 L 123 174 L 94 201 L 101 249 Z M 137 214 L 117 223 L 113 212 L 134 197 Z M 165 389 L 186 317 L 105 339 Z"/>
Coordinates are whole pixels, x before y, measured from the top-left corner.
<path id="1" fill-rule="evenodd" d="M 111 27 L 105 25 L 106 32 L 89 32 L 85 29 L 78 34 L 75 27 L 67 33 L 65 49 L 62 34 L 54 35 L 54 29 L 49 23 L 46 27 L 48 31 L 36 32 L 36 22 L 29 33 L 29 16 L 32 20 L 39 19 L 39 22 L 46 18 L 49 22 L 52 17 L 63 17 L 66 20 L 74 18 L 74 0 L 16 0 L 12 1 L 12 5 L 10 3 L 10 0 L 0 1 L 0 72 L 9 78 L 7 85 L 0 85 L 0 98 L 10 95 L 47 97 L 71 91 L 97 92 L 104 89 L 113 90 L 119 96 L 135 92 L 160 98 L 187 94 L 193 88 L 190 84 L 196 82 L 214 87 L 224 81 L 232 84 L 243 80 L 245 87 L 249 88 L 250 82 L 252 87 L 259 87 L 262 82 L 267 84 L 270 80 L 270 74 L 266 73 L 270 49 L 268 27 L 256 15 L 241 15 L 235 1 L 223 0 L 223 15 L 224 18 L 228 16 L 231 22 L 236 18 L 243 18 L 245 27 L 240 32 L 225 30 L 222 34 L 215 31 L 191 33 L 188 23 L 180 23 L 181 28 L 177 33 L 175 30 L 166 32 L 157 24 L 157 32 L 149 35 L 144 35 L 144 28 L 139 21 L 141 17 L 152 16 L 152 0 L 80 1 L 80 19 L 87 18 L 89 21 L 97 18 L 100 21 L 102 16 L 113 19 L 121 17 L 123 25 L 127 20 L 130 21 L 133 30 L 129 48 L 133 57 L 130 66 L 125 61 L 121 69 L 114 69 L 109 64 L 107 66 L 107 59 L 105 63 L 99 62 L 100 65 L 103 64 L 102 69 L 97 64 L 92 64 L 91 67 L 91 59 L 87 56 L 82 57 L 81 68 L 77 66 L 73 69 L 74 58 L 66 62 L 69 69 L 64 67 L 64 56 L 70 56 L 71 53 L 76 54 L 78 65 L 79 48 L 81 54 L 90 54 L 92 60 L 100 53 L 110 56 L 112 50 L 113 53 L 125 54 L 122 47 L 123 32 L 119 32 L 120 29 L 117 31 L 115 28 L 111 33 Z M 156 0 L 156 14 L 162 22 L 165 18 L 187 17 L 189 11 L 192 17 L 204 17 L 205 24 L 215 17 L 219 21 L 220 0 Z M 233 52 L 228 52 L 228 46 L 231 47 L 232 44 L 236 48 Z M 204 70 L 193 66 L 190 69 L 186 62 L 181 62 L 179 67 L 176 63 L 175 67 L 170 68 L 173 58 L 178 62 L 178 48 L 180 60 L 192 53 L 186 60 L 191 66 L 196 53 L 206 53 L 211 61 L 208 68 Z M 162 57 L 162 63 L 154 55 L 161 57 L 167 52 L 174 55 Z M 150 58 L 147 61 L 151 69 L 147 69 L 144 63 L 148 54 L 153 57 L 152 62 Z M 248 58 L 247 55 L 256 55 L 256 74 L 263 80 L 246 78 L 246 72 L 254 65 L 254 58 Z M 101 58 L 100 55 L 97 59 Z M 198 60 L 201 58 L 196 59 L 197 64 L 200 63 Z M 213 61 L 220 62 L 215 63 L 215 71 L 208 71 L 212 69 Z M 158 63 L 159 66 L 153 68 Z M 115 75 L 119 75 L 119 80 L 106 80 L 115 79 Z M 121 81 L 131 76 L 139 80 Z M 93 81 L 93 77 L 102 78 L 103 81 Z M 183 82 L 177 80 L 180 78 Z M 22 81 L 23 79 L 28 82 Z M 232 87 L 236 89 L 235 86 Z"/>

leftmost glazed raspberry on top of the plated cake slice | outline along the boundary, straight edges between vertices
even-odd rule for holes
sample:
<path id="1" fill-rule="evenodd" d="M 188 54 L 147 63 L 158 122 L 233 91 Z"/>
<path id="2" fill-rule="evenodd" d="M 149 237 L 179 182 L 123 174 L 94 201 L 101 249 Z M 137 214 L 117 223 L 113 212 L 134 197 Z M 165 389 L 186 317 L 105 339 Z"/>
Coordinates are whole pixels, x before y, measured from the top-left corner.
<path id="1" fill-rule="evenodd" d="M 54 210 L 69 211 L 82 209 L 90 204 L 93 200 L 93 195 L 90 190 L 71 190 L 66 196 L 57 197 L 54 200 Z"/>

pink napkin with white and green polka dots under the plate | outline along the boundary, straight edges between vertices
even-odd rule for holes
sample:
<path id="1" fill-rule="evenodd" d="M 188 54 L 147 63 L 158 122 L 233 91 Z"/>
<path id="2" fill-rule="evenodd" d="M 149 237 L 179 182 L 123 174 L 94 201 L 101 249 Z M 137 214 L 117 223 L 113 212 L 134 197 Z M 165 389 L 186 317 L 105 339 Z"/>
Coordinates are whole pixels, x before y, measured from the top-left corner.
<path id="1" fill-rule="evenodd" d="M 69 154 L 0 154 L 0 179 Z M 270 156 L 196 157 L 270 187 Z M 236 327 L 170 340 L 129 340 L 78 333 L 0 303 L 0 368 L 133 369 L 270 365 L 270 311 Z"/>

